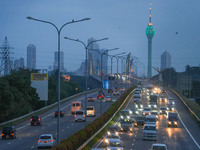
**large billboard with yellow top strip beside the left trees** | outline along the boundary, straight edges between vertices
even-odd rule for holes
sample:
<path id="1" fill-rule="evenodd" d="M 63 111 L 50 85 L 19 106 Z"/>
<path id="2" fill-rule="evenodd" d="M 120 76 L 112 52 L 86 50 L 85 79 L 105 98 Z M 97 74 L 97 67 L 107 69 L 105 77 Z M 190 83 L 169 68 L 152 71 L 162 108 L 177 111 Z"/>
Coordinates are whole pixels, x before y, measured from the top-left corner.
<path id="1" fill-rule="evenodd" d="M 36 88 L 36 92 L 41 101 L 48 100 L 48 74 L 31 73 L 31 86 Z"/>

